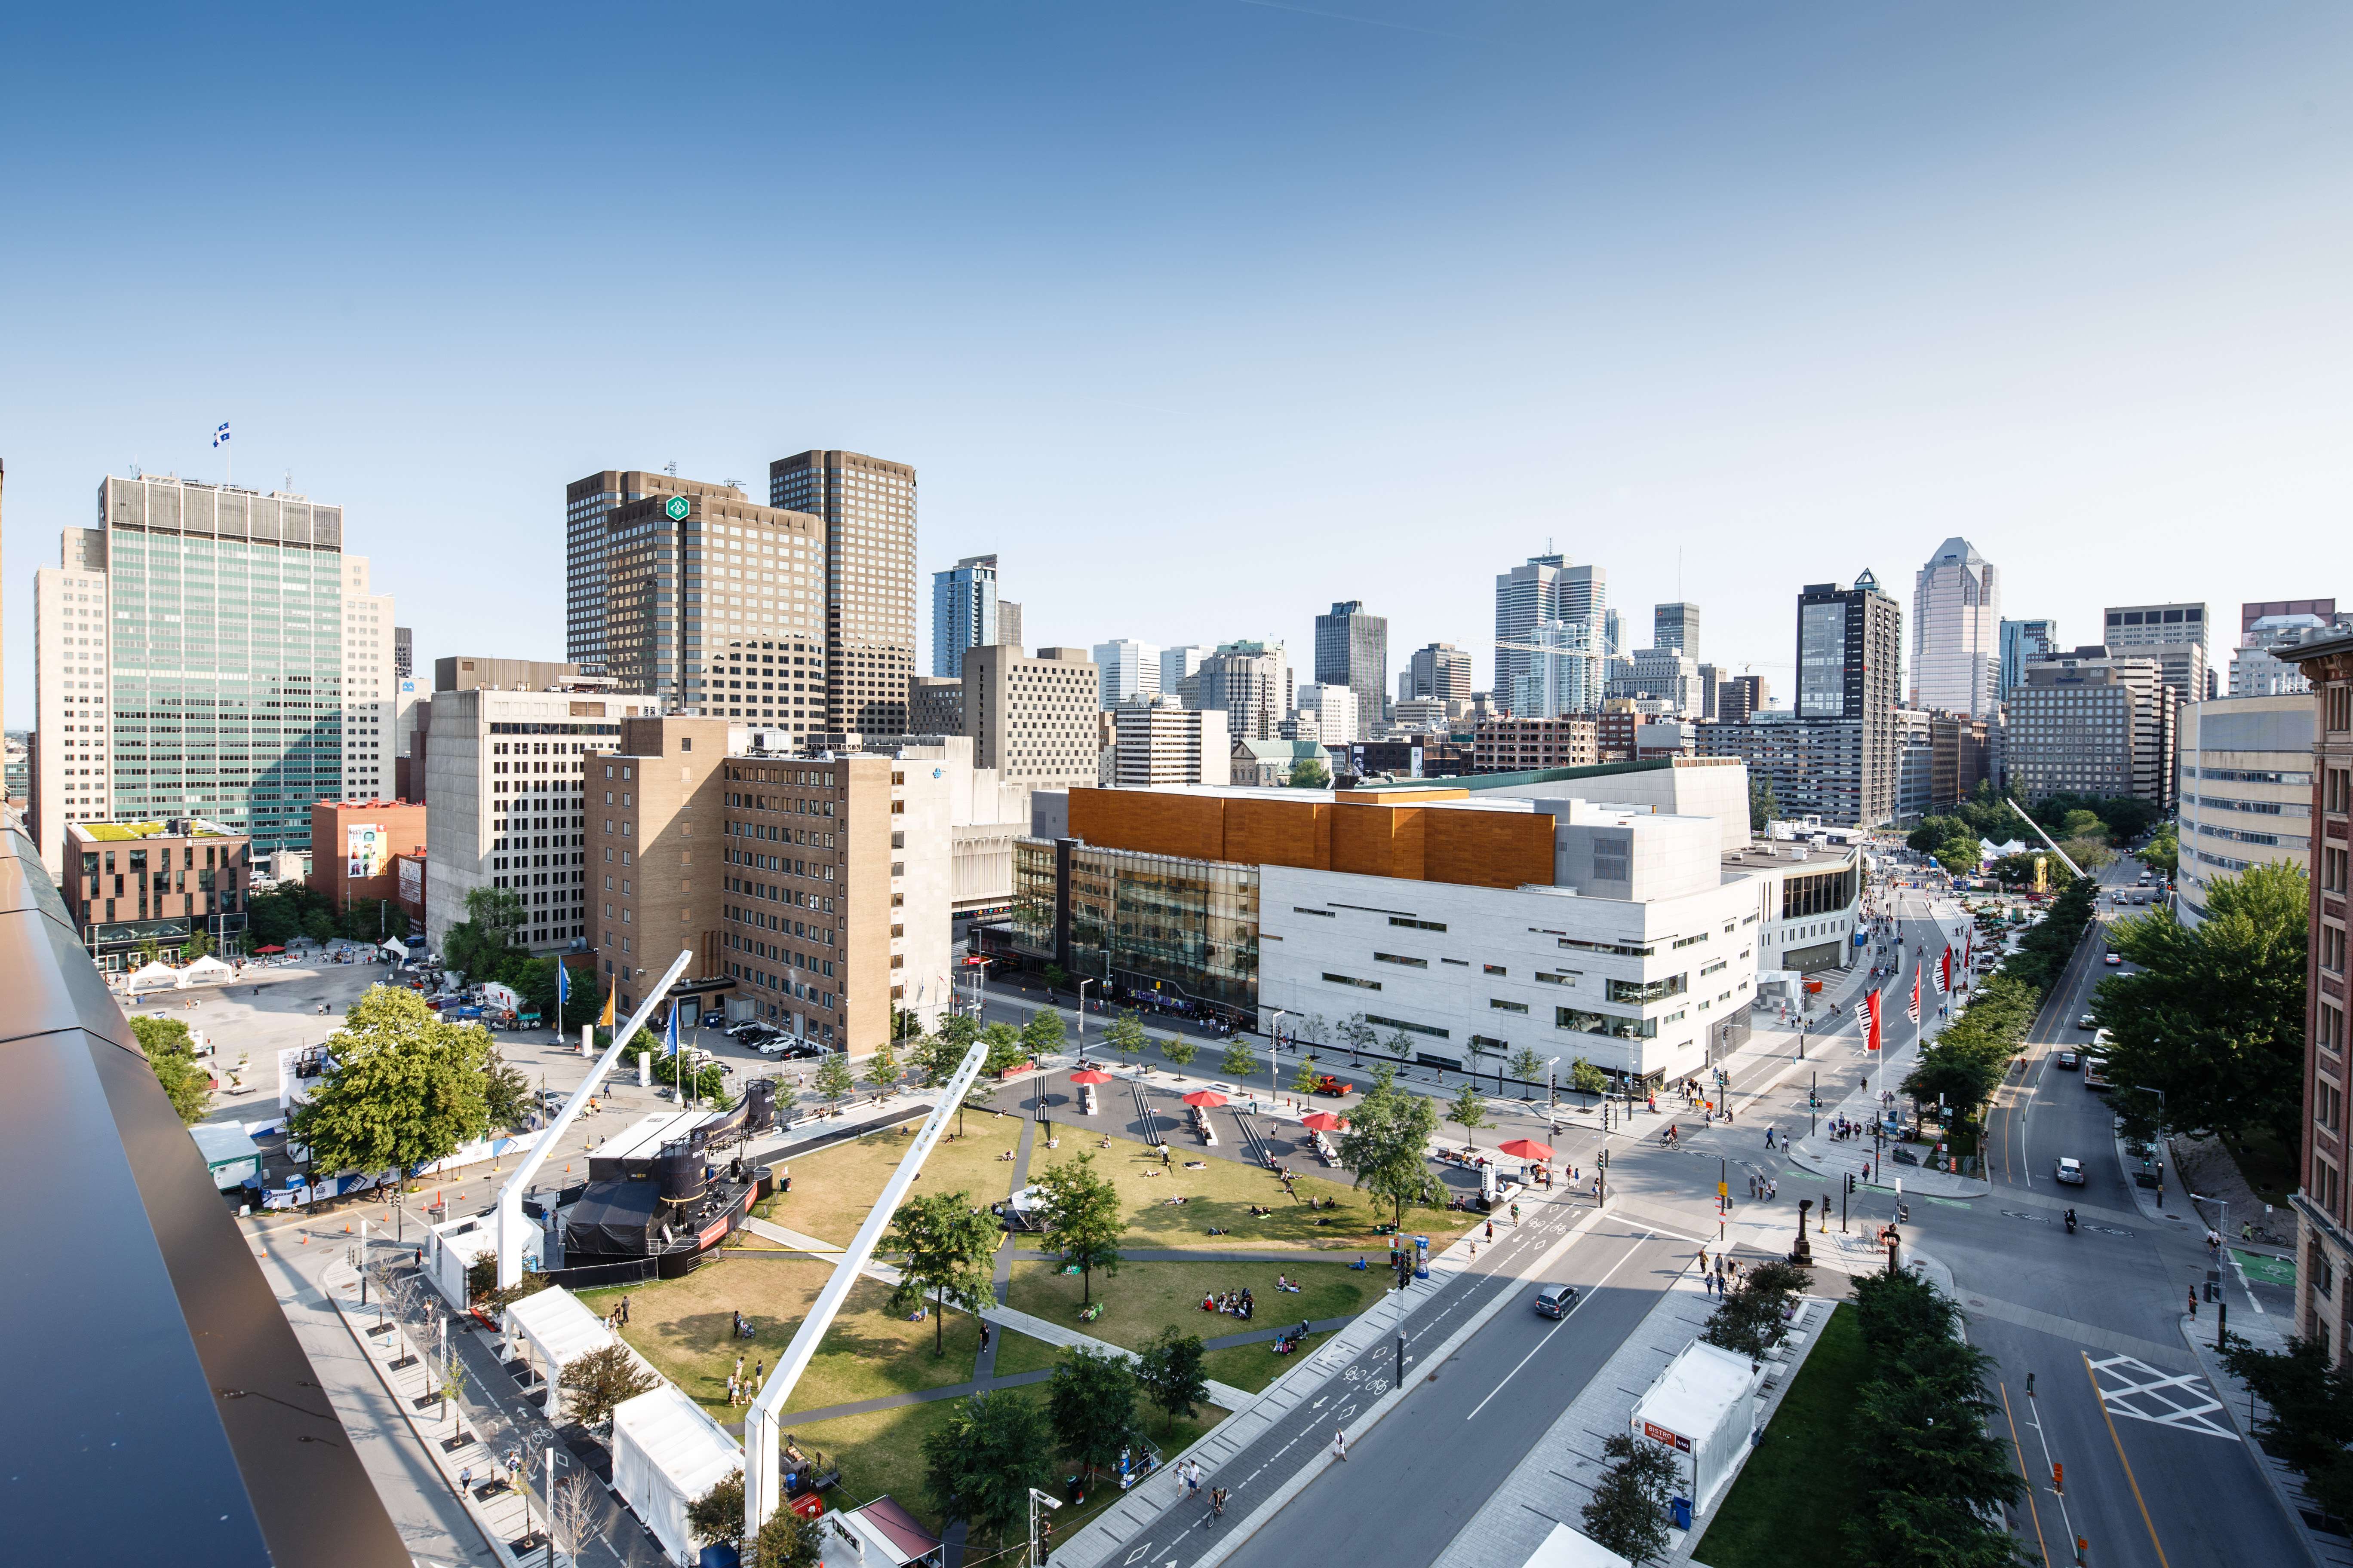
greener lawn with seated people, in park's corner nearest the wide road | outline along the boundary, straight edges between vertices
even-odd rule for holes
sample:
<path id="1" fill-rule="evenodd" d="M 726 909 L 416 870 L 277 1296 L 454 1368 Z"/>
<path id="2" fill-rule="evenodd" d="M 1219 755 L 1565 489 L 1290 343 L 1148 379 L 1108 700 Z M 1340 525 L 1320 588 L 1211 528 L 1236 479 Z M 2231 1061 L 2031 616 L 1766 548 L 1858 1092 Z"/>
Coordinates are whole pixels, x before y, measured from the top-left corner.
<path id="1" fill-rule="evenodd" d="M 1275 1274 L 1289 1274 L 1306 1288 L 1297 1295 L 1275 1291 Z M 1280 1328 L 1299 1319 L 1355 1316 L 1381 1298 L 1384 1269 L 1351 1269 L 1346 1262 L 1122 1262 L 1118 1276 L 1094 1272 L 1094 1300 L 1104 1316 L 1078 1321 L 1080 1276 L 1064 1274 L 1059 1262 L 1016 1262 L 1005 1288 L 1005 1305 L 1066 1324 L 1096 1340 L 1127 1349 L 1144 1345 L 1174 1324 L 1184 1333 L 1214 1340 L 1224 1333 Z M 1240 1291 L 1249 1286 L 1259 1314 L 1247 1324 L 1221 1312 L 1202 1312 L 1205 1291 Z M 1261 1347 L 1245 1347 L 1266 1361 L 1287 1363 Z M 1002 1363 L 1002 1352 L 1000 1352 Z"/>

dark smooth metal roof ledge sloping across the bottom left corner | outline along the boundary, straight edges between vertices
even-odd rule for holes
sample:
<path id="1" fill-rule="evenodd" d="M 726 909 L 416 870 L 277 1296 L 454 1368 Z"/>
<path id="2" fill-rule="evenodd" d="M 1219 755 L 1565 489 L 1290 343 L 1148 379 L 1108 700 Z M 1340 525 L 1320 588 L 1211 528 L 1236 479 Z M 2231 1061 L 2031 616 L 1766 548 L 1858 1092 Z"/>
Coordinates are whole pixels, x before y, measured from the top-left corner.
<path id="1" fill-rule="evenodd" d="M 31 842 L 0 827 L 7 1561 L 407 1568 Z"/>

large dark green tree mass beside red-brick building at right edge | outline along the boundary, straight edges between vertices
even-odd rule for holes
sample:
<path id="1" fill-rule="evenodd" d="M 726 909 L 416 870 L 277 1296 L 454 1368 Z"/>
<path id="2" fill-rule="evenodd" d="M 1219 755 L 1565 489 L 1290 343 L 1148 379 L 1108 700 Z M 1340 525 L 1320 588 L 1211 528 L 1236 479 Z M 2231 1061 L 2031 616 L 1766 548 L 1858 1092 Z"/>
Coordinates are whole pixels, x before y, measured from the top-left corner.
<path id="1" fill-rule="evenodd" d="M 2297 1145 L 2304 1121 L 2304 959 L 2308 884 L 2259 865 L 2207 884 L 2207 917 L 2122 919 L 2108 945 L 2139 971 L 2108 976 L 2092 1016 L 2108 1030 L 2108 1077 L 2165 1095 L 2167 1131 L 2268 1131 Z"/>

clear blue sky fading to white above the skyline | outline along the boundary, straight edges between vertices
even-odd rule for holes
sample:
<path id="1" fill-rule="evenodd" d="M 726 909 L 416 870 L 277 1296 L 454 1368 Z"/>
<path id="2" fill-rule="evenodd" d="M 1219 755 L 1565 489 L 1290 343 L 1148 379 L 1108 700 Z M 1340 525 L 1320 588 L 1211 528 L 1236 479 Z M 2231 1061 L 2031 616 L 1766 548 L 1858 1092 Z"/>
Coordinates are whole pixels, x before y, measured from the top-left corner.
<path id="1" fill-rule="evenodd" d="M 562 654 L 562 487 L 920 470 L 1033 644 L 1551 538 L 1788 689 L 1802 583 L 2353 607 L 2353 12 L 122 7 L 0 35 L 7 722 L 106 473 L 348 508 L 421 658 Z M 925 583 L 927 590 L 927 583 Z"/>

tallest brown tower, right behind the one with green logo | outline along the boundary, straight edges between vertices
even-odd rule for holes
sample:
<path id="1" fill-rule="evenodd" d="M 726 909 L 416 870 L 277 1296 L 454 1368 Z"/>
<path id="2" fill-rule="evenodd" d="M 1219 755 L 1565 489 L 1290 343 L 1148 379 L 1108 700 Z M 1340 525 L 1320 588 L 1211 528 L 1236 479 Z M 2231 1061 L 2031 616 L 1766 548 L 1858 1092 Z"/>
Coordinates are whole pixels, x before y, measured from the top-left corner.
<path id="1" fill-rule="evenodd" d="M 826 524 L 826 729 L 906 733 L 915 470 L 861 451 L 800 451 L 767 465 L 767 501 Z"/>

